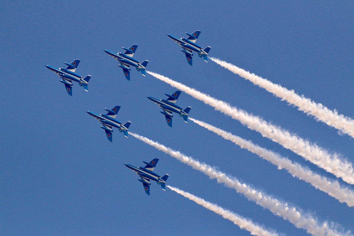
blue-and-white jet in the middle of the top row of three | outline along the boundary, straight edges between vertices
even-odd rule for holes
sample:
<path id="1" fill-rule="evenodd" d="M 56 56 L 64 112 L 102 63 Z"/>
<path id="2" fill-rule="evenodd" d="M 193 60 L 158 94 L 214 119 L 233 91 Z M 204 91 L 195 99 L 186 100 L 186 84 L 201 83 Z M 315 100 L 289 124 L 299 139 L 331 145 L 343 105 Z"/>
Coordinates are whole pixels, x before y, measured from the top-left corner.
<path id="1" fill-rule="evenodd" d="M 129 49 L 122 47 L 122 49 L 125 50 L 124 53 L 121 52 L 114 53 L 109 50 L 104 50 L 105 53 L 107 53 L 111 57 L 114 57 L 120 63 L 120 65 L 118 66 L 123 69 L 125 78 L 127 80 L 130 80 L 130 70 L 131 70 L 130 66 L 135 67 L 137 71 L 140 71 L 142 75 L 145 76 L 145 67 L 149 61 L 145 60 L 142 63 L 140 63 L 138 60 L 135 60 L 133 58 L 133 55 L 137 47 L 138 45 L 136 44 L 131 45 Z"/>

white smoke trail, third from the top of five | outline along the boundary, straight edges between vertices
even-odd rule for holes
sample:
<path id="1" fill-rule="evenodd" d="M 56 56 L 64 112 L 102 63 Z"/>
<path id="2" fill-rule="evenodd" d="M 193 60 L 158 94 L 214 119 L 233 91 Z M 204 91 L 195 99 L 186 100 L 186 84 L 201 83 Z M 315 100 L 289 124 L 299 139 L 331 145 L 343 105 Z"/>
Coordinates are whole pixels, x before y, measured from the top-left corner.
<path id="1" fill-rule="evenodd" d="M 296 176 L 298 179 L 308 182 L 316 189 L 319 189 L 336 198 L 339 202 L 345 202 L 349 207 L 354 206 L 354 192 L 347 187 L 341 187 L 338 181 L 328 180 L 325 176 L 313 173 L 308 168 L 304 168 L 296 162 L 292 163 L 289 159 L 281 157 L 278 153 L 274 153 L 265 148 L 259 147 L 249 140 L 244 140 L 239 136 L 233 135 L 227 131 L 216 128 L 200 120 L 193 118 L 189 119 L 201 127 L 216 133 L 224 139 L 232 141 L 234 144 L 240 146 L 241 148 L 246 148 L 250 152 L 257 154 L 259 157 L 262 157 L 270 163 L 278 166 L 278 169 L 286 169 L 287 172 L 289 172 L 292 176 Z"/>

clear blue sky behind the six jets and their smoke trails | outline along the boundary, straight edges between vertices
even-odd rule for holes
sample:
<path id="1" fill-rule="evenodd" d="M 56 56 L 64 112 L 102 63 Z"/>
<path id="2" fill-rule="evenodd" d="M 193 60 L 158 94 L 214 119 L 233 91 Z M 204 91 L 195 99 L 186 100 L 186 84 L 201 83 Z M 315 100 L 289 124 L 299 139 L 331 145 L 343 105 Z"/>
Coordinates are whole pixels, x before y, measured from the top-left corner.
<path id="1" fill-rule="evenodd" d="M 353 139 L 288 106 L 217 64 L 194 56 L 190 67 L 166 34 L 201 30 L 210 56 L 268 78 L 353 117 L 352 1 L 1 1 L 0 3 L 0 235 L 250 235 L 175 192 L 152 184 L 150 196 L 123 164 L 160 158 L 168 183 L 286 235 L 307 235 L 232 189 L 115 131 L 110 143 L 85 111 L 121 106 L 130 131 L 159 141 L 290 202 L 319 220 L 354 231 L 354 208 L 285 170 L 176 116 L 167 126 L 156 98 L 176 89 L 132 70 L 131 81 L 102 50 L 149 60 L 148 70 L 263 117 L 354 163 Z M 89 92 L 73 97 L 55 74 L 80 59 Z M 280 145 L 184 93 L 190 116 L 281 153 L 334 179 Z M 339 180 L 343 186 L 348 186 Z M 352 186 L 349 186 L 353 189 Z"/>

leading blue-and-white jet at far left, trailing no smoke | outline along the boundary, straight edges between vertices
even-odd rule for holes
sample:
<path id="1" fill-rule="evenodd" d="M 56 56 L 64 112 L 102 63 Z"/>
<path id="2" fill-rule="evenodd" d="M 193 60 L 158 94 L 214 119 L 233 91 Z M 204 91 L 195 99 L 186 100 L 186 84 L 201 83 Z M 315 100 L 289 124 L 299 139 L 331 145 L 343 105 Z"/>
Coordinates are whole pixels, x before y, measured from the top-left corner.
<path id="1" fill-rule="evenodd" d="M 60 78 L 63 80 L 59 80 L 65 85 L 65 88 L 70 96 L 73 96 L 73 91 L 72 91 L 72 86 L 73 86 L 73 81 L 78 82 L 81 87 L 84 87 L 85 91 L 88 90 L 88 84 L 89 80 L 91 78 L 91 75 L 87 75 L 85 78 L 82 79 L 82 77 L 78 74 L 75 73 L 76 68 L 78 68 L 80 63 L 80 60 L 75 60 L 72 63 L 66 63 L 64 62 L 65 65 L 67 65 L 67 68 L 55 68 L 52 66 L 46 65 L 48 69 L 50 69 L 52 72 L 56 73 Z"/>

